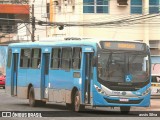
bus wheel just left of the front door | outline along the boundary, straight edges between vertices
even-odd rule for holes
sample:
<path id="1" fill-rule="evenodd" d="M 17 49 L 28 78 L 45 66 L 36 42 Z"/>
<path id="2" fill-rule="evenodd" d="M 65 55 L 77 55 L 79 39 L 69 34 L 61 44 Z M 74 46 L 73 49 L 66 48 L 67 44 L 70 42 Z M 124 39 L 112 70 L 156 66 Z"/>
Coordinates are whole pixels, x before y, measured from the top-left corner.
<path id="1" fill-rule="evenodd" d="M 85 106 L 80 104 L 80 94 L 77 91 L 74 97 L 74 111 L 80 112 L 84 110 Z"/>

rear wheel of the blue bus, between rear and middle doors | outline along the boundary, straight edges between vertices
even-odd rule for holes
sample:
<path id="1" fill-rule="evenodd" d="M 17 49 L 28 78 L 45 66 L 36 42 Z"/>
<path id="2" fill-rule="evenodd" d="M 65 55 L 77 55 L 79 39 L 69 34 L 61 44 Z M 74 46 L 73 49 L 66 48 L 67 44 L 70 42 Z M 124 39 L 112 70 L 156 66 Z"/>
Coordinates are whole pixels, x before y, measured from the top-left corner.
<path id="1" fill-rule="evenodd" d="M 29 90 L 29 106 L 35 107 L 37 105 L 38 101 L 35 100 L 35 95 L 34 95 L 34 88 L 31 87 Z"/>

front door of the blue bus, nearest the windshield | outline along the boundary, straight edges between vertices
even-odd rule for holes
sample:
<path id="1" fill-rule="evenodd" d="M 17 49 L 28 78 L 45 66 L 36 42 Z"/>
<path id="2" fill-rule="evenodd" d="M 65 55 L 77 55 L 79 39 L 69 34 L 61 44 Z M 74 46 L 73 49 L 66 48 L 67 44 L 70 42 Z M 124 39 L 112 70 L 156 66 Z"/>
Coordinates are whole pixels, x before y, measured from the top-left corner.
<path id="1" fill-rule="evenodd" d="M 92 79 L 92 54 L 93 53 L 85 53 L 85 85 L 84 85 L 84 96 L 85 103 L 90 104 L 91 98 L 91 79 Z"/>

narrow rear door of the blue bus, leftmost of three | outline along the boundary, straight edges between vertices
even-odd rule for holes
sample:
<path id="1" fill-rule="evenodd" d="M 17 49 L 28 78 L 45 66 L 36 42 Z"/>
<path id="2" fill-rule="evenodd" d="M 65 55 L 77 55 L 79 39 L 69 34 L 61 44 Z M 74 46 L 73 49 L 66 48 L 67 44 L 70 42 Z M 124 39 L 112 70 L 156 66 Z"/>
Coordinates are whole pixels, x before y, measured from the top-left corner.
<path id="1" fill-rule="evenodd" d="M 12 59 L 12 79 L 11 79 L 11 95 L 17 95 L 17 75 L 18 75 L 18 53 L 13 53 Z"/>

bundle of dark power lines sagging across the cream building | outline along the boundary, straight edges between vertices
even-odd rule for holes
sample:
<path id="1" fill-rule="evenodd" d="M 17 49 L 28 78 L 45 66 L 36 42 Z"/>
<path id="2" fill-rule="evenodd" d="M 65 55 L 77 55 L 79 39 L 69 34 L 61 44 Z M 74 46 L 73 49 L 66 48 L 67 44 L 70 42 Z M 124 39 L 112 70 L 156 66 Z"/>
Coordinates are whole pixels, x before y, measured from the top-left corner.
<path id="1" fill-rule="evenodd" d="M 44 21 L 39 21 L 35 22 L 35 24 L 46 24 L 48 26 L 59 26 L 59 27 L 121 27 L 119 25 L 134 25 L 137 24 L 136 22 L 142 22 L 142 20 L 147 20 L 147 19 L 151 19 L 154 17 L 157 17 L 158 15 L 153 15 L 153 14 L 147 14 L 147 15 L 140 15 L 137 17 L 126 17 L 126 18 L 118 18 L 118 19 L 114 19 L 111 21 L 101 21 L 101 22 L 44 22 Z M 96 19 L 95 19 L 96 20 Z M 33 18 L 32 21 L 34 22 Z M 132 22 L 132 23 L 131 23 Z M 32 23 L 32 22 L 28 22 L 28 23 Z M 138 24 L 144 24 L 144 23 L 138 23 Z M 45 26 L 45 25 L 44 25 Z"/>

